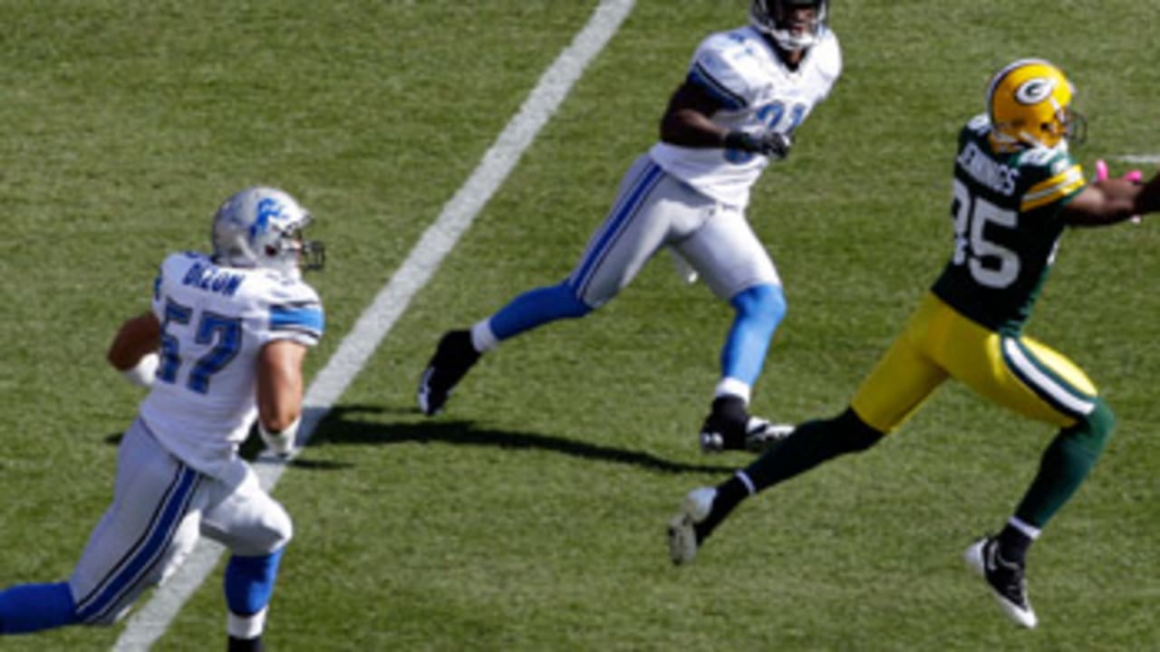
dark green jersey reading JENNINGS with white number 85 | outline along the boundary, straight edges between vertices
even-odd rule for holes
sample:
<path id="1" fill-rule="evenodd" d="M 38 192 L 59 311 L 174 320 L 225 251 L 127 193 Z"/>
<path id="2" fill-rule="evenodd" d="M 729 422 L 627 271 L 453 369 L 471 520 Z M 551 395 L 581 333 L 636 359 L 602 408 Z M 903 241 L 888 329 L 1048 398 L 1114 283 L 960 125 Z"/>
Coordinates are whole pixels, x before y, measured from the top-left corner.
<path id="1" fill-rule="evenodd" d="M 1065 147 L 1001 152 L 989 133 L 986 115 L 959 133 L 955 252 L 931 290 L 972 321 L 1018 333 L 1051 269 L 1060 209 L 1086 181 Z"/>

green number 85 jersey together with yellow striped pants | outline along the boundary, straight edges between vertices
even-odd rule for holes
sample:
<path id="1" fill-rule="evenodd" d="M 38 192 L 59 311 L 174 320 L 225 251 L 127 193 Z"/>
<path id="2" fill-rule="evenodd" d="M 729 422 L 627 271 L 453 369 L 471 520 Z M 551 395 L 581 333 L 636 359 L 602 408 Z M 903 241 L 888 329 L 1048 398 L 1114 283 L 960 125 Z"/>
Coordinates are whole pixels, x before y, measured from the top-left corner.
<path id="1" fill-rule="evenodd" d="M 851 405 L 890 432 L 948 376 L 1039 421 L 1067 427 L 1096 408 L 1071 360 L 1022 334 L 1064 230 L 1060 209 L 1086 186 L 1066 146 L 995 151 L 986 115 L 962 130 L 954 249 L 930 294 Z"/>

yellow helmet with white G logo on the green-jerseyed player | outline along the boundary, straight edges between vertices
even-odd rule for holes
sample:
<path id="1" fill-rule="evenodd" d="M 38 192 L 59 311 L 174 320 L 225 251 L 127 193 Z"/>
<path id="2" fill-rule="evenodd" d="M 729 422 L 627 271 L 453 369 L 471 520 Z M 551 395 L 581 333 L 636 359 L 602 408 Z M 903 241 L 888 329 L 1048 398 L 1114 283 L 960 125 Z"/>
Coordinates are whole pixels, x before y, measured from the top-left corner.
<path id="1" fill-rule="evenodd" d="M 1064 72 L 1049 61 L 1008 64 L 987 87 L 992 139 L 1003 148 L 1056 147 L 1064 139 L 1079 144 L 1087 123 L 1071 107 L 1074 94 Z"/>

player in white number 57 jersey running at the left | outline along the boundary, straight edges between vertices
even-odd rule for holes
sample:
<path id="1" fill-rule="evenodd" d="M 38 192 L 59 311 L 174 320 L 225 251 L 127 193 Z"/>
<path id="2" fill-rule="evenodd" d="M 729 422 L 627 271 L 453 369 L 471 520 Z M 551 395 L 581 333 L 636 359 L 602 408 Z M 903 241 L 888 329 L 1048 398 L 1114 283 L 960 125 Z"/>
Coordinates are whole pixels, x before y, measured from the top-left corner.
<path id="1" fill-rule="evenodd" d="M 165 259 L 152 310 L 125 321 L 108 352 L 114 368 L 150 387 L 121 442 L 113 505 L 67 581 L 0 592 L 0 633 L 113 624 L 205 535 L 232 553 L 229 650 L 262 649 L 292 531 L 238 447 L 256 418 L 274 452 L 292 451 L 302 363 L 324 321 L 299 271 L 322 263 L 321 244 L 302 237 L 310 223 L 287 193 L 248 188 L 213 216 L 212 255 Z"/>

